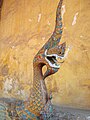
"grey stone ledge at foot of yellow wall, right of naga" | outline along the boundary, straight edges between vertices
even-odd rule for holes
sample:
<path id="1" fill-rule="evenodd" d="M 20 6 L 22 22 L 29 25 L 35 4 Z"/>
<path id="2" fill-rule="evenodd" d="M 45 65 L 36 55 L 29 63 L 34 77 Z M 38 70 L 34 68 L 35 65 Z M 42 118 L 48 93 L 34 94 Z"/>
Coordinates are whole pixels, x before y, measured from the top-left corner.
<path id="1" fill-rule="evenodd" d="M 44 120 L 90 120 L 90 110 L 53 106 L 53 112 L 44 115 Z"/>

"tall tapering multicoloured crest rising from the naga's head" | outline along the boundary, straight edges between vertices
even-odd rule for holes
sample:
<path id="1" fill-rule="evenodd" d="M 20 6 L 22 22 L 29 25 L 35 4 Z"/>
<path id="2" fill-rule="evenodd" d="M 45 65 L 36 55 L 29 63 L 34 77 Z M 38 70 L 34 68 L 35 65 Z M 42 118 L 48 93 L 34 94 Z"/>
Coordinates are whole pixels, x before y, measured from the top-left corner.
<path id="1" fill-rule="evenodd" d="M 44 44 L 44 46 L 39 50 L 38 53 L 44 52 L 46 49 L 53 48 L 57 46 L 60 42 L 60 39 L 62 37 L 62 16 L 61 16 L 61 8 L 62 8 L 62 2 L 63 0 L 60 0 L 57 11 L 56 11 L 56 24 L 55 29 L 49 40 Z"/>

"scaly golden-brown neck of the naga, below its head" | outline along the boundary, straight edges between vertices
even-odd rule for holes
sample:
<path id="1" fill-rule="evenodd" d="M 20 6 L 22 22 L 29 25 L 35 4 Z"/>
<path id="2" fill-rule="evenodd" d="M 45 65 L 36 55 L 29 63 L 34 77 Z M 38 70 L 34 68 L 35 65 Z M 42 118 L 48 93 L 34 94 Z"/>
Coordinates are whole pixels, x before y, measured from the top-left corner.
<path id="1" fill-rule="evenodd" d="M 47 103 L 47 88 L 42 74 L 42 64 L 33 65 L 33 89 L 30 103 L 31 110 L 35 114 L 39 114 Z"/>

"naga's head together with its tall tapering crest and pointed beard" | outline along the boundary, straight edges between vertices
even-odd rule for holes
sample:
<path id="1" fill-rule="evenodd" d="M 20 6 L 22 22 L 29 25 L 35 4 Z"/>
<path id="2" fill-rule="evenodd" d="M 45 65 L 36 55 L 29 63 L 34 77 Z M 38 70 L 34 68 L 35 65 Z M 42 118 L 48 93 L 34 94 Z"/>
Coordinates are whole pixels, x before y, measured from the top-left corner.
<path id="1" fill-rule="evenodd" d="M 53 34 L 45 45 L 39 50 L 39 52 L 34 57 L 34 66 L 39 65 L 41 68 L 46 65 L 47 70 L 43 75 L 43 79 L 47 76 L 54 74 L 60 68 L 58 64 L 58 59 L 63 59 L 66 50 L 66 43 L 60 43 L 62 37 L 62 17 L 61 17 L 61 7 L 62 1 L 60 0 L 57 11 L 56 11 L 56 25 Z"/>

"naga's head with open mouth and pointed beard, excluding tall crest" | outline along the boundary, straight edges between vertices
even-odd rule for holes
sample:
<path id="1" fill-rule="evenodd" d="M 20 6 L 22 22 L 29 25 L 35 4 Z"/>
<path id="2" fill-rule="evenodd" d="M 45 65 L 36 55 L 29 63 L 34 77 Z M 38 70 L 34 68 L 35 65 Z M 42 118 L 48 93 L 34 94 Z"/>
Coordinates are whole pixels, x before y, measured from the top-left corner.
<path id="1" fill-rule="evenodd" d="M 65 50 L 66 43 L 64 42 L 49 49 L 43 48 L 37 53 L 34 58 L 34 65 L 41 66 L 41 69 L 44 65 L 47 66 L 43 79 L 59 70 L 60 64 L 58 63 L 58 59 L 62 60 L 64 58 Z"/>

